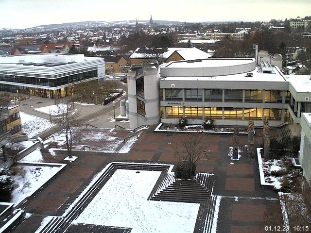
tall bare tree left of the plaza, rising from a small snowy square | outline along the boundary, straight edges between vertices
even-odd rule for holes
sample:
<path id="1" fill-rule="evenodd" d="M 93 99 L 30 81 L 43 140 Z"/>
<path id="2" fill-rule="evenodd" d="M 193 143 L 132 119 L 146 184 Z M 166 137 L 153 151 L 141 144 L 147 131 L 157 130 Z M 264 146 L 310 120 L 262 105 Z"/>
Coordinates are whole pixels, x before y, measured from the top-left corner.
<path id="1" fill-rule="evenodd" d="M 80 112 L 70 112 L 70 103 L 62 103 L 58 105 L 58 115 L 54 116 L 54 122 L 61 126 L 66 137 L 66 146 L 68 157 L 72 158 L 72 141 L 75 128 L 80 126 Z"/>

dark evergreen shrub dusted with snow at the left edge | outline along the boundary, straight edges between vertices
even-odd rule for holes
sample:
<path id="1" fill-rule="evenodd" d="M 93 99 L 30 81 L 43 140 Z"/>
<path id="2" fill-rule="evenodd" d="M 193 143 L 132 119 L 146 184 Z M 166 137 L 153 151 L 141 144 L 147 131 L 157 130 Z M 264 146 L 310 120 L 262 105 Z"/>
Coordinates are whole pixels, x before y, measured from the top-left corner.
<path id="1" fill-rule="evenodd" d="M 0 201 L 10 201 L 13 183 L 10 169 L 8 167 L 0 168 Z"/>

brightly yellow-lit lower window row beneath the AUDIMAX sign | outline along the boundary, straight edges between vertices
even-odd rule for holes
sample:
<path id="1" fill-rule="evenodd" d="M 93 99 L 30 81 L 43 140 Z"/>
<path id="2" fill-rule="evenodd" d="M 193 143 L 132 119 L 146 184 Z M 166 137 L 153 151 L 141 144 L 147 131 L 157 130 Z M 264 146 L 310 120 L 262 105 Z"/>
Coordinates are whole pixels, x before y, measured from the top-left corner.
<path id="1" fill-rule="evenodd" d="M 212 119 L 240 119 L 242 120 L 242 108 L 223 108 L 222 107 L 184 107 L 185 117 L 202 119 L 203 111 L 205 118 Z M 244 119 L 262 119 L 262 116 L 269 116 L 271 120 L 281 120 L 282 109 L 264 109 L 262 108 L 244 108 Z M 183 107 L 165 107 L 166 118 L 181 118 L 183 117 Z M 287 109 L 285 109 L 285 118 L 289 117 Z"/>

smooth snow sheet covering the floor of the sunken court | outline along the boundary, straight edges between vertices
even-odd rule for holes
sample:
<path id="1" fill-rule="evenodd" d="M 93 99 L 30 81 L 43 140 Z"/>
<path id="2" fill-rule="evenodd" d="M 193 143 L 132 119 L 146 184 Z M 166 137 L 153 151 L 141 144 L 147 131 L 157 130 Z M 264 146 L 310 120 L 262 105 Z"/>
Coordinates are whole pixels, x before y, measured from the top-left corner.
<path id="1" fill-rule="evenodd" d="M 200 204 L 147 200 L 160 174 L 118 169 L 72 223 L 129 227 L 131 233 L 193 232 Z"/>

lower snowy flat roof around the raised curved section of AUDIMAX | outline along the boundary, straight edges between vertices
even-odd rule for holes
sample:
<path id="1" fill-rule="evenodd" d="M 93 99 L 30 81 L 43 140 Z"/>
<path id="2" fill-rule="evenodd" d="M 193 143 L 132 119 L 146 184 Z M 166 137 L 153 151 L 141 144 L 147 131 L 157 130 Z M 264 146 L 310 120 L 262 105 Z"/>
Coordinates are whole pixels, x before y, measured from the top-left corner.
<path id="1" fill-rule="evenodd" d="M 191 63 L 190 63 L 191 64 Z M 223 63 L 222 63 L 223 64 Z M 239 81 L 239 82 L 286 82 L 276 67 L 273 67 L 273 73 L 262 73 L 260 67 L 255 67 L 251 72 L 241 74 L 207 76 L 207 77 L 166 77 L 161 81 Z M 252 73 L 252 77 L 246 77 L 247 73 Z"/>

